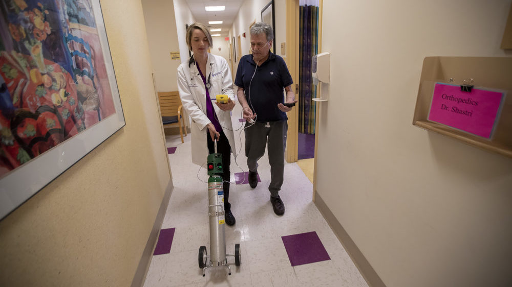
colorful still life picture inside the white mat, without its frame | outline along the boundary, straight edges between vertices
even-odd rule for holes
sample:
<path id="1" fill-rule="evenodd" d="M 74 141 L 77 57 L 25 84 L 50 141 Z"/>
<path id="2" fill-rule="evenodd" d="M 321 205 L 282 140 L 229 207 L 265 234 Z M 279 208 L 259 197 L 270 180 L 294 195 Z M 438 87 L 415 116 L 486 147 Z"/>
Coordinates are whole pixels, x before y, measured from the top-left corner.
<path id="1" fill-rule="evenodd" d="M 0 178 L 116 113 L 90 0 L 0 4 Z"/>

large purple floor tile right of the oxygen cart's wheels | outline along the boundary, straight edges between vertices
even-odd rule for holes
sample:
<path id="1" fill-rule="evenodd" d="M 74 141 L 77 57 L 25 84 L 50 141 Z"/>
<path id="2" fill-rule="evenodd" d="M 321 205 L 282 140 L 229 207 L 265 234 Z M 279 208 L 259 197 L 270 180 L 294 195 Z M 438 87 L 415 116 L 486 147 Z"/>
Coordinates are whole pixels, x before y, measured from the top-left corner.
<path id="1" fill-rule="evenodd" d="M 330 260 L 316 231 L 281 236 L 291 266 Z"/>

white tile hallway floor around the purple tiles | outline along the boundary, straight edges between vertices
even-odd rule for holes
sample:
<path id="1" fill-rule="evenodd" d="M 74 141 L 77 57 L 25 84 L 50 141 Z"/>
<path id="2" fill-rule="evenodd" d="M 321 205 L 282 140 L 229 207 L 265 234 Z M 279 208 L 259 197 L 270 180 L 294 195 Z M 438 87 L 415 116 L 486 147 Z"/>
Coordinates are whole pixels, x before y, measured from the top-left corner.
<path id="1" fill-rule="evenodd" d="M 233 127 L 241 127 L 240 105 L 233 111 Z M 245 139 L 235 132 L 237 162 L 247 171 L 243 152 Z M 240 140 L 242 142 L 240 142 Z M 153 256 L 144 286 L 368 286 L 318 211 L 312 198 L 312 183 L 296 163 L 286 163 L 285 180 L 280 196 L 285 204 L 284 216 L 276 216 L 270 204 L 270 166 L 267 155 L 259 161 L 261 182 L 254 189 L 248 184 L 231 184 L 229 201 L 237 223 L 226 225 L 226 253 L 241 245 L 241 266 L 228 257 L 231 275 L 226 268 L 208 269 L 206 276 L 198 267 L 199 247 L 209 251 L 206 170 L 191 163 L 190 136 L 181 143 L 179 135 L 167 137 L 167 147 L 177 147 L 168 155 L 173 173 L 174 190 L 163 228 L 176 228 L 169 254 Z M 242 149 L 240 149 L 242 147 Z M 206 159 L 205 159 L 206 160 Z M 231 178 L 242 172 L 231 158 Z M 331 260 L 292 267 L 281 236 L 316 231 Z"/>

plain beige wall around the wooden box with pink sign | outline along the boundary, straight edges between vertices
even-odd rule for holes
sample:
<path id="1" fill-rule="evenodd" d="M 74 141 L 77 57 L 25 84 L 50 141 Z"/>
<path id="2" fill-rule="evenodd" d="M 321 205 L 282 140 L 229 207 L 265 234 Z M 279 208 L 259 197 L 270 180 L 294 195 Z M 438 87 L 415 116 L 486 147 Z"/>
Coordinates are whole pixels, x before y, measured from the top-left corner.
<path id="1" fill-rule="evenodd" d="M 324 1 L 317 192 L 388 286 L 512 285 L 512 159 L 412 125 L 423 58 L 504 56 L 509 7 Z"/>

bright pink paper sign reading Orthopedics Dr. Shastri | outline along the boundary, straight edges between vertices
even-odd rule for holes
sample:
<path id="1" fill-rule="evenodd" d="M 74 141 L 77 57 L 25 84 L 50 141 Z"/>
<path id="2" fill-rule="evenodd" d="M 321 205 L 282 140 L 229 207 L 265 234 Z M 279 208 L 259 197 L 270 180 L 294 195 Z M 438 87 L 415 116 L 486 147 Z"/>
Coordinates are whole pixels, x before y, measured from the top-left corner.
<path id="1" fill-rule="evenodd" d="M 496 123 L 503 93 L 436 83 L 429 121 L 490 138 Z"/>

